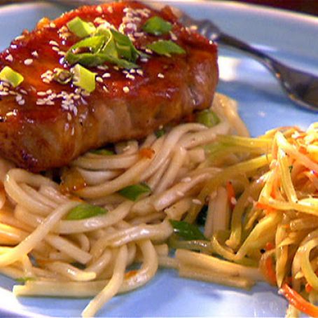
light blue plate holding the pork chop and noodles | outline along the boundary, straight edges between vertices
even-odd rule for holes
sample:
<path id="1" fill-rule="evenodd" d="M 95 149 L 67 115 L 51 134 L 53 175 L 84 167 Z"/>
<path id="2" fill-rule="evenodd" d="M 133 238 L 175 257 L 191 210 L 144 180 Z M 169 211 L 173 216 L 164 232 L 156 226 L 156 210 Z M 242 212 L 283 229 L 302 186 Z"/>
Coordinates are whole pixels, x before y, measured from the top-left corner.
<path id="1" fill-rule="evenodd" d="M 287 11 L 234 2 L 169 1 L 195 18 L 210 18 L 224 31 L 266 53 L 318 74 L 318 19 Z M 0 50 L 11 39 L 32 29 L 43 16 L 55 18 L 64 8 L 39 2 L 0 8 Z M 298 108 L 286 98 L 277 81 L 254 60 L 220 50 L 219 92 L 237 99 L 240 115 L 251 134 L 282 125 L 307 127 L 318 114 Z M 11 293 L 13 280 L 0 276 L 0 315 L 78 317 L 89 299 L 18 298 Z M 257 284 L 251 291 L 181 279 L 174 270 L 159 270 L 146 286 L 116 296 L 99 317 L 282 317 L 286 300 L 277 289 Z"/>

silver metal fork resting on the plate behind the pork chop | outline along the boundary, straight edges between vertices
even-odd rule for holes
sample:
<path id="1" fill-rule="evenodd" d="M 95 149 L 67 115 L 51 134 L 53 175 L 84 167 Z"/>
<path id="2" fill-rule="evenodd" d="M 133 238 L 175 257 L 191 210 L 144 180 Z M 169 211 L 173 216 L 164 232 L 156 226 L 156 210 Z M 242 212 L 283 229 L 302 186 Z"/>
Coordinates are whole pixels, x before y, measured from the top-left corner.
<path id="1" fill-rule="evenodd" d="M 15 2 L 12 0 L 2 0 L 4 3 Z M 28 2 L 29 0 L 20 0 L 19 3 Z M 63 4 L 78 6 L 84 4 L 102 4 L 109 2 L 110 0 L 48 0 L 48 2 L 54 4 Z M 153 1 L 144 1 L 150 6 L 155 6 L 155 8 L 162 7 L 163 4 Z M 273 57 L 257 50 L 253 46 L 250 46 L 239 39 L 236 39 L 229 34 L 225 34 L 212 23 L 210 20 L 195 20 L 189 15 L 179 10 L 178 8 L 173 8 L 174 13 L 179 17 L 180 22 L 182 22 L 186 27 L 196 27 L 198 32 L 206 36 L 208 39 L 215 41 L 220 46 L 227 46 L 228 48 L 234 48 L 240 50 L 243 53 L 251 55 L 251 57 L 256 58 L 259 62 L 265 65 L 272 74 L 277 78 L 280 85 L 289 96 L 289 98 L 302 106 L 305 109 L 310 109 L 312 111 L 318 111 L 318 76 L 308 74 L 305 71 L 300 71 L 289 67 L 282 62 L 279 62 Z"/>

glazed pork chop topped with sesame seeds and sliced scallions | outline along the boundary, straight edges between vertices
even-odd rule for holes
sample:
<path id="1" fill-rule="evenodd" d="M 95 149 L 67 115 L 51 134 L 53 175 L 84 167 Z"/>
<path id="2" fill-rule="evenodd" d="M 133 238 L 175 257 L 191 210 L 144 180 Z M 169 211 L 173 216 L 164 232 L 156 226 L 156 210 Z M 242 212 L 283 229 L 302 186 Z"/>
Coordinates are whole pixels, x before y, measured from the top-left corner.
<path id="1" fill-rule="evenodd" d="M 211 105 L 216 59 L 169 7 L 128 1 L 43 19 L 0 55 L 0 153 L 39 172 L 145 137 Z"/>

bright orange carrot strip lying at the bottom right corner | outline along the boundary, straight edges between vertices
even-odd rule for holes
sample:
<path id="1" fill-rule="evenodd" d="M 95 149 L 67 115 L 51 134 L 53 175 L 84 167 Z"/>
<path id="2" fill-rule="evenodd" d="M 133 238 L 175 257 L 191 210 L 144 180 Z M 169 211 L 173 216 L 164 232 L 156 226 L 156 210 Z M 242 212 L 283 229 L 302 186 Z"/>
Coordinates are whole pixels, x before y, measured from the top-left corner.
<path id="1" fill-rule="evenodd" d="M 302 296 L 299 295 L 299 293 L 297 293 L 297 291 L 292 289 L 289 285 L 284 283 L 281 291 L 286 299 L 289 301 L 289 303 L 296 307 L 298 310 L 304 312 L 305 314 L 308 314 L 311 317 L 318 317 L 318 307 L 305 300 Z"/>

